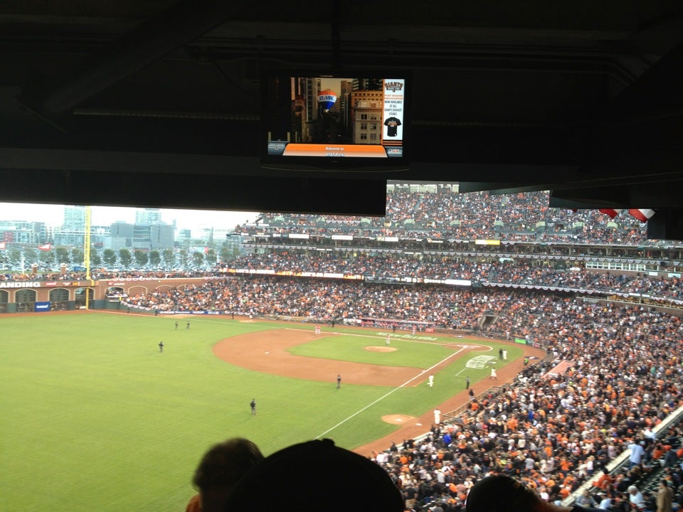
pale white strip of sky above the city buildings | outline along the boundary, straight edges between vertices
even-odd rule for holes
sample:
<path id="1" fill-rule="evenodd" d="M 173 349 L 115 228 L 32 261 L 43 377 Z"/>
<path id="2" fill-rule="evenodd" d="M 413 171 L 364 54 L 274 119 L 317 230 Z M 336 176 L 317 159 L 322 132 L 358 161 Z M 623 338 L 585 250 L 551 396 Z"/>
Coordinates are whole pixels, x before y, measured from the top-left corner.
<path id="1" fill-rule="evenodd" d="M 135 210 L 113 206 L 92 206 L 92 225 L 110 225 L 117 221 L 134 223 Z M 253 221 L 254 212 L 214 211 L 214 210 L 167 210 L 161 209 L 162 221 L 172 224 L 176 220 L 178 228 L 234 228 L 235 225 Z M 0 220 L 29 220 L 44 222 L 50 226 L 62 225 L 63 205 L 0 203 Z"/>

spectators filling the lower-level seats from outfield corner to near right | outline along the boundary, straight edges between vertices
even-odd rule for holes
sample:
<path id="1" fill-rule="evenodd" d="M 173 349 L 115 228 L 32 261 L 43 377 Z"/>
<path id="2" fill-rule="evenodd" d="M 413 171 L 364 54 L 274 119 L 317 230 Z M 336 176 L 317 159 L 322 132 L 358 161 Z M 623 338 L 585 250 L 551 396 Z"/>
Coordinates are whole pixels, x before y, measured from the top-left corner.
<path id="1" fill-rule="evenodd" d="M 589 504 L 606 500 L 605 508 L 615 512 L 648 512 L 645 505 L 634 511 L 628 487 L 662 465 L 683 503 L 682 432 L 674 425 L 654 433 L 683 405 L 679 316 L 638 304 L 585 302 L 571 294 L 277 277 L 214 280 L 131 302 L 330 319 L 410 317 L 485 336 L 535 340 L 548 351 L 547 360 L 524 368 L 502 389 L 473 398 L 455 421 L 433 425 L 424 439 L 403 439 L 371 454 L 408 506 L 463 510 L 470 486 L 486 474 L 502 473 L 521 479 L 546 501 L 559 502 L 591 481 L 604 496 L 584 496 L 594 501 Z M 484 324 L 485 316 L 494 320 Z M 567 369 L 554 373 L 563 361 Z M 603 473 L 625 450 L 631 454 L 628 470 Z"/>

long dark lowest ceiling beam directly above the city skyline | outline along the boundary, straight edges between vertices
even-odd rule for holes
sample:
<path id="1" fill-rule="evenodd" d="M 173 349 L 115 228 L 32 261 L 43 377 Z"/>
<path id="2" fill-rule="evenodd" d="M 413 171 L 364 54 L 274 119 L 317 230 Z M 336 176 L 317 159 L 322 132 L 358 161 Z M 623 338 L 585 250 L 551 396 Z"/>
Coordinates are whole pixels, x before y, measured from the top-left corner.
<path id="1" fill-rule="evenodd" d="M 386 181 L 367 177 L 189 176 L 0 170 L 0 202 L 144 206 L 329 215 L 386 215 Z"/>

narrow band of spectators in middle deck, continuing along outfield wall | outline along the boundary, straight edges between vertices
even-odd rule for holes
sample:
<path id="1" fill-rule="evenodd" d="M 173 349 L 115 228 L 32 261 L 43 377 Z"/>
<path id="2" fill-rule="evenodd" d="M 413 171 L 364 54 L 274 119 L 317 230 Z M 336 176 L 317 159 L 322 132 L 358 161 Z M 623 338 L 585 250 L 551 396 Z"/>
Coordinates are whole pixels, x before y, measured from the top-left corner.
<path id="1" fill-rule="evenodd" d="M 92 272 L 92 279 L 169 279 L 179 277 L 221 277 L 258 270 L 275 273 L 300 274 L 327 273 L 356 276 L 361 279 L 391 280 L 394 282 L 423 282 L 424 279 L 461 279 L 475 281 L 483 286 L 522 286 L 528 288 L 563 289 L 564 291 L 597 293 L 603 295 L 646 296 L 662 302 L 683 301 L 681 279 L 676 275 L 662 276 L 645 273 L 598 272 L 581 267 L 558 269 L 547 262 L 527 260 L 460 260 L 457 257 L 434 255 L 411 257 L 411 255 L 374 254 L 346 255 L 329 252 L 325 255 L 299 252 L 269 252 L 238 257 L 228 265 L 212 270 L 187 270 L 172 272 L 107 271 Z M 85 279 L 82 272 L 50 274 L 0 274 L 0 281 L 76 281 Z"/>

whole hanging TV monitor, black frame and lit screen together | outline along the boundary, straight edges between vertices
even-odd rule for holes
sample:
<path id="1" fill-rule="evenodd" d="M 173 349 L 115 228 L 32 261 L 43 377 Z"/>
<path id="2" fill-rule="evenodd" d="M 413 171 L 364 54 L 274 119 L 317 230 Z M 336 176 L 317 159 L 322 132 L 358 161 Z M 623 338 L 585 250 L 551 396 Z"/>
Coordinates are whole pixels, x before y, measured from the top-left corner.
<path id="1" fill-rule="evenodd" d="M 408 169 L 407 75 L 267 73 L 261 93 L 263 167 Z"/>

